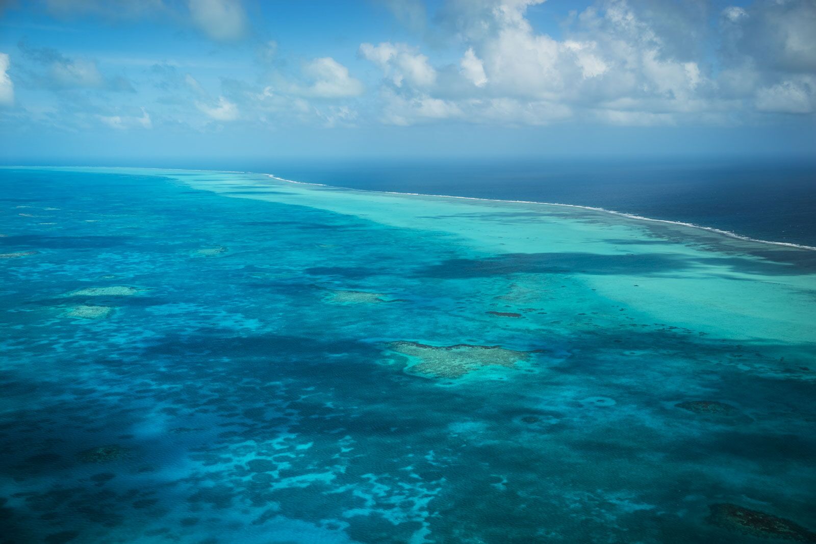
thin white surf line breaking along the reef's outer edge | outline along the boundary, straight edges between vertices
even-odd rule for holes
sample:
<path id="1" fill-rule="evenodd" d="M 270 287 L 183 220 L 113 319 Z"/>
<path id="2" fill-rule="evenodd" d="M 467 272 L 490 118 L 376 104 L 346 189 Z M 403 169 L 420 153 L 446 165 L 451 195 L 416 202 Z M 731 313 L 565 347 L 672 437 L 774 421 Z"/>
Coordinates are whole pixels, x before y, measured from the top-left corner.
<path id="1" fill-rule="evenodd" d="M 561 204 L 560 202 L 539 202 L 539 201 L 524 201 L 524 200 L 502 200 L 499 198 L 480 198 L 480 197 L 457 197 L 455 195 L 433 195 L 424 192 L 397 192 L 397 191 L 378 191 L 376 189 L 355 189 L 353 187 L 342 187 L 339 185 L 329 185 L 329 184 L 315 184 L 308 181 L 295 181 L 294 179 L 286 179 L 279 177 L 273 174 L 266 174 L 264 172 L 247 172 L 241 170 L 202 170 L 202 169 L 193 169 L 193 168 L 156 168 L 151 166 L 8 166 L 3 165 L 0 168 L 7 168 L 7 169 L 14 169 L 14 168 L 21 168 L 21 169 L 30 169 L 36 170 L 38 168 L 51 168 L 51 169 L 60 169 L 60 170 L 69 170 L 71 168 L 94 168 L 97 170 L 125 170 L 125 169 L 132 169 L 132 170 L 164 170 L 169 172 L 213 172 L 215 174 L 251 174 L 251 175 L 265 175 L 272 179 L 277 179 L 278 181 L 285 181 L 287 184 L 298 184 L 298 185 L 314 185 L 316 187 L 331 187 L 331 188 L 338 188 L 338 189 L 346 189 L 347 191 L 360 191 L 360 192 L 379 192 L 382 194 L 389 194 L 389 195 L 406 195 L 407 197 L 437 197 L 437 198 L 460 198 L 462 200 L 475 200 L 475 201 L 486 201 L 486 202 L 515 202 L 517 204 L 543 204 L 546 206 L 563 206 L 565 208 L 579 208 L 582 210 L 592 210 L 592 211 L 602 211 L 606 214 L 613 214 L 613 215 L 621 215 L 623 217 L 627 217 L 629 219 L 639 219 L 641 221 L 653 221 L 654 223 L 667 223 L 671 225 L 681 225 L 683 227 L 690 227 L 690 228 L 699 228 L 700 230 L 708 231 L 708 232 L 716 232 L 716 234 L 721 234 L 726 237 L 736 238 L 737 240 L 743 241 L 752 241 L 758 244 L 768 244 L 768 245 L 783 245 L 784 247 L 792 247 L 796 248 L 797 250 L 808 250 L 808 251 L 816 251 L 816 247 L 813 245 L 804 245 L 804 244 L 794 244 L 793 242 L 787 241 L 772 241 L 772 240 L 761 240 L 760 238 L 752 238 L 743 236 L 742 234 L 737 234 L 736 232 L 731 231 L 724 231 L 721 228 L 714 228 L 714 227 L 705 227 L 703 225 L 697 225 L 694 223 L 685 223 L 683 221 L 672 221 L 671 219 L 654 219 L 651 217 L 644 217 L 643 215 L 634 215 L 628 214 L 623 211 L 616 211 L 616 210 L 607 210 L 606 208 L 598 208 L 596 206 L 582 206 L 580 204 Z"/>

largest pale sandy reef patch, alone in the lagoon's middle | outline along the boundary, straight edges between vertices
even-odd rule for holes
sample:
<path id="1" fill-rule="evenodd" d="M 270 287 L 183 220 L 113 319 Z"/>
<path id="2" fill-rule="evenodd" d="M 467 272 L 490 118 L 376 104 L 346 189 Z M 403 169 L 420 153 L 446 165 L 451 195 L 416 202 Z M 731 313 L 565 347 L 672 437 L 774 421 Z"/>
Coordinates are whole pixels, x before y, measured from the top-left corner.
<path id="1" fill-rule="evenodd" d="M 388 344 L 397 353 L 419 359 L 408 371 L 434 378 L 462 378 L 474 370 L 487 366 L 512 369 L 519 362 L 530 359 L 530 352 L 519 352 L 501 346 L 429 346 L 418 342 L 398 341 Z"/>

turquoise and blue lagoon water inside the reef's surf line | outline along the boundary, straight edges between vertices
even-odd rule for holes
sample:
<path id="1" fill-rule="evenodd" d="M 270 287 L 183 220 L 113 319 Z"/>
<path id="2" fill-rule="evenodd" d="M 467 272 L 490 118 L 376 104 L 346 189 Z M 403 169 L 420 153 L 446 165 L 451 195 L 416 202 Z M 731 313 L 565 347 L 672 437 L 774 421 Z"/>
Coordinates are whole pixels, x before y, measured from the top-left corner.
<path id="1" fill-rule="evenodd" d="M 816 252 L 0 169 L 0 542 L 814 542 Z"/>

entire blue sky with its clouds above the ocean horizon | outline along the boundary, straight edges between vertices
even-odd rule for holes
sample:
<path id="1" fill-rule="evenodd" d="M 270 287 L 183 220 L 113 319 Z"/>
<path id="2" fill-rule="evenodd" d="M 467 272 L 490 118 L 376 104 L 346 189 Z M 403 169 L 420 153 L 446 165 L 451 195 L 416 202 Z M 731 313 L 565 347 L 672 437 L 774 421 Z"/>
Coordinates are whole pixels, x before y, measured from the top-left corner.
<path id="1" fill-rule="evenodd" d="M 0 161 L 816 157 L 816 0 L 0 0 Z"/>

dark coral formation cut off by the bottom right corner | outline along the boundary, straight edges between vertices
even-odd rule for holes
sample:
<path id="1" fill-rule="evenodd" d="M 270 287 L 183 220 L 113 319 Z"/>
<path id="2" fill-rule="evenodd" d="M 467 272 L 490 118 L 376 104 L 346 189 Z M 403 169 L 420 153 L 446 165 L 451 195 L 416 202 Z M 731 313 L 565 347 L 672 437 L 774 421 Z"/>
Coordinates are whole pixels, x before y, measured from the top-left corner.
<path id="1" fill-rule="evenodd" d="M 727 502 L 712 504 L 709 508 L 711 513 L 707 517 L 708 523 L 723 529 L 756 537 L 816 542 L 816 533 L 811 533 L 791 520 Z"/>

